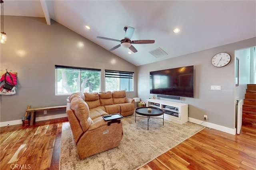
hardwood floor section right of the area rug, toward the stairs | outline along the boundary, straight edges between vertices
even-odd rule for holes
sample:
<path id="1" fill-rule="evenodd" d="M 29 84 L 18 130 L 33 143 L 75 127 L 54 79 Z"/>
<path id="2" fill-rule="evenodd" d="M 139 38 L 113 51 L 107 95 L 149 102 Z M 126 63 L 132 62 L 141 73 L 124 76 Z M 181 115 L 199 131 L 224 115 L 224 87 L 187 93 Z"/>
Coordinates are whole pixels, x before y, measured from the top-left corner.
<path id="1" fill-rule="evenodd" d="M 139 170 L 255 170 L 256 129 L 240 135 L 204 129 Z"/>

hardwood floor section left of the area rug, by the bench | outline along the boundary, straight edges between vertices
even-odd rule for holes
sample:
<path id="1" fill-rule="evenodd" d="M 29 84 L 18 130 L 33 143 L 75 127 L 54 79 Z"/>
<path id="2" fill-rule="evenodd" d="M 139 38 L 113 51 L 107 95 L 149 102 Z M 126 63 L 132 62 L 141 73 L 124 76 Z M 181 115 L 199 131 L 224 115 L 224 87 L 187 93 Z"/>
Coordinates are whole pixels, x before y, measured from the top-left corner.
<path id="1" fill-rule="evenodd" d="M 62 123 L 68 118 L 0 129 L 0 169 L 58 170 Z"/>

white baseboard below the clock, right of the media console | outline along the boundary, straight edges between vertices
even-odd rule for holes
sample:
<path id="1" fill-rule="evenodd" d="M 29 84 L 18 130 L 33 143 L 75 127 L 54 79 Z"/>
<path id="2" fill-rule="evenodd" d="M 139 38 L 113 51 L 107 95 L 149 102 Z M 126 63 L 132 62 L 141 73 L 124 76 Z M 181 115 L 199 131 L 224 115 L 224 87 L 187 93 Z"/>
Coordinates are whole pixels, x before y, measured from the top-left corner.
<path id="1" fill-rule="evenodd" d="M 194 119 L 194 118 L 191 118 L 191 117 L 188 117 L 188 119 L 189 119 L 190 122 L 196 123 L 198 125 L 200 125 L 203 122 L 202 120 Z M 209 122 L 206 122 L 206 121 L 203 122 L 201 125 L 205 126 L 205 127 L 210 127 L 212 129 L 216 129 L 218 131 L 229 133 L 231 135 L 236 135 L 236 128 L 235 129 L 231 129 L 229 127 L 224 127 L 224 126 L 221 126 L 221 125 L 216 125 L 214 123 L 209 123 Z"/>

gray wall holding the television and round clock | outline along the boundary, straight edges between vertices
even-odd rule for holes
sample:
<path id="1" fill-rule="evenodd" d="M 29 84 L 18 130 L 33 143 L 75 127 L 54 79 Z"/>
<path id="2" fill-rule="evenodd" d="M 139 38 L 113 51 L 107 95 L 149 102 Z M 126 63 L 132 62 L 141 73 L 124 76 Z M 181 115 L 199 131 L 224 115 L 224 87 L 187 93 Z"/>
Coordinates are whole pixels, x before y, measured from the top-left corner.
<path id="1" fill-rule="evenodd" d="M 256 37 L 156 63 L 138 66 L 138 97 L 140 97 L 141 100 L 152 98 L 152 94 L 149 93 L 150 71 L 194 65 L 194 98 L 182 98 L 183 103 L 189 104 L 188 116 L 203 121 L 204 115 L 208 115 L 207 121 L 209 123 L 234 129 L 235 50 L 255 45 Z M 212 66 L 211 59 L 216 53 L 220 52 L 229 53 L 232 59 L 227 66 L 216 68 Z M 219 85 L 221 86 L 221 90 L 210 90 L 211 85 Z M 168 100 L 165 98 L 160 99 Z M 172 101 L 180 102 L 179 100 Z"/>

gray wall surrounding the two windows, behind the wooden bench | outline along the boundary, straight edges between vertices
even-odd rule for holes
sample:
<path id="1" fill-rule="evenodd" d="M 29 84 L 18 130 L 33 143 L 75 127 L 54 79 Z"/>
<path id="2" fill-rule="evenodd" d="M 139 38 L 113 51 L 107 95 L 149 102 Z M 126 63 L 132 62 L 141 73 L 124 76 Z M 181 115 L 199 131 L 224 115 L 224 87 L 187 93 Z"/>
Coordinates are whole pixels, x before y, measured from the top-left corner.
<path id="1" fill-rule="evenodd" d="M 52 21 L 44 18 L 4 16 L 6 44 L 1 44 L 1 71 L 18 72 L 16 94 L 0 96 L 0 122 L 19 120 L 31 107 L 66 105 L 68 95 L 55 96 L 55 64 L 101 68 L 101 90 L 104 91 L 104 69 L 134 71 L 136 66 Z M 78 43 L 84 46 L 79 47 Z M 135 74 L 136 75 L 136 74 Z M 127 92 L 128 98 L 136 97 Z M 65 110 L 60 110 L 65 113 Z M 47 115 L 54 111 L 48 111 Z M 38 113 L 38 116 L 43 116 Z"/>

